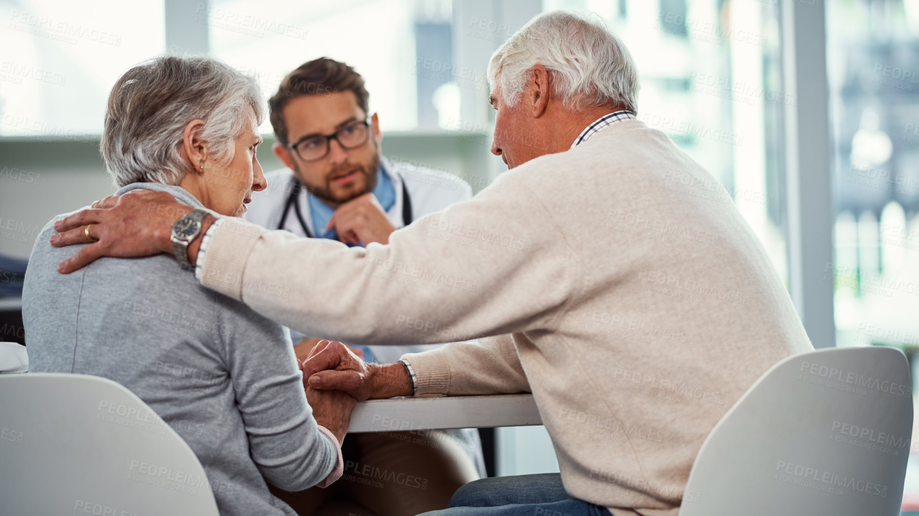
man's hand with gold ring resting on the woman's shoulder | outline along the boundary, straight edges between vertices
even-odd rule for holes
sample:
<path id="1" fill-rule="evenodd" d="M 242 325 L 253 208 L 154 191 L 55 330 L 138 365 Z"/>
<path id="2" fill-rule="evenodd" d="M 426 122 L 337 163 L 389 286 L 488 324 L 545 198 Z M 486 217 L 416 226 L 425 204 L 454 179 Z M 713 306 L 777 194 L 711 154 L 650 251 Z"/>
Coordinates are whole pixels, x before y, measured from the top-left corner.
<path id="1" fill-rule="evenodd" d="M 70 274 L 103 256 L 150 256 L 172 252 L 172 226 L 192 208 L 176 198 L 153 190 L 132 191 L 123 196 L 108 196 L 93 203 L 92 208 L 74 213 L 54 223 L 57 234 L 51 245 L 64 247 L 89 243 L 73 257 L 58 265 L 58 272 Z M 213 218 L 201 221 L 201 232 L 210 228 Z M 89 238 L 86 226 L 89 225 Z M 188 245 L 188 259 L 195 264 L 200 238 Z"/>

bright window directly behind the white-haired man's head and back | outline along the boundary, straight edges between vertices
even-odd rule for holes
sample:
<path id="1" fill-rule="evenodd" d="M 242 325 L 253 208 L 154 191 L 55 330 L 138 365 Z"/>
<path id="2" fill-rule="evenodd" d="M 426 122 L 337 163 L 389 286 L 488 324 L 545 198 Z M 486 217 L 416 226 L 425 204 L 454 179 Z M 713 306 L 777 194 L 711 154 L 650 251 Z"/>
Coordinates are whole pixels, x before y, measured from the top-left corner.
<path id="1" fill-rule="evenodd" d="M 770 2 L 544 0 L 543 9 L 595 12 L 639 69 L 639 119 L 661 129 L 723 185 L 687 196 L 733 201 L 788 283 L 778 9 Z"/>

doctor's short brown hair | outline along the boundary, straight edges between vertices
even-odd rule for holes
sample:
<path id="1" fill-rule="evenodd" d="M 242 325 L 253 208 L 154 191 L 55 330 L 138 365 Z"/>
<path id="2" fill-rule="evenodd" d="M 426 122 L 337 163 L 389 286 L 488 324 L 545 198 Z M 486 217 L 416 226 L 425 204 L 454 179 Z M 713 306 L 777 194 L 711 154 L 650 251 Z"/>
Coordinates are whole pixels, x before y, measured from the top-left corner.
<path id="1" fill-rule="evenodd" d="M 278 93 L 268 99 L 271 127 L 275 130 L 278 142 L 282 145 L 289 143 L 284 107 L 291 99 L 303 95 L 335 95 L 346 91 L 354 92 L 357 106 L 367 113 L 370 94 L 364 87 L 364 78 L 346 63 L 321 57 L 304 62 L 288 73 L 278 85 Z"/>

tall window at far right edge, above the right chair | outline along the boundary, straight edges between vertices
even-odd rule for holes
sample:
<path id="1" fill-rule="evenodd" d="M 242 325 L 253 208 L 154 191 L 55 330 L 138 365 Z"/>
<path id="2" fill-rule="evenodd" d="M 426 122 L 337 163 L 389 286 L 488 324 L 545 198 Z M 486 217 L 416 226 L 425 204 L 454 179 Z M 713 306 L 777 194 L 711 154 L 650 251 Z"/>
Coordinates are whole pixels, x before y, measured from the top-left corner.
<path id="1" fill-rule="evenodd" d="M 919 373 L 919 2 L 828 2 L 838 346 L 902 349 Z M 913 394 L 913 403 L 915 403 Z M 919 437 L 913 428 L 913 443 Z M 919 510 L 913 444 L 903 509 Z"/>

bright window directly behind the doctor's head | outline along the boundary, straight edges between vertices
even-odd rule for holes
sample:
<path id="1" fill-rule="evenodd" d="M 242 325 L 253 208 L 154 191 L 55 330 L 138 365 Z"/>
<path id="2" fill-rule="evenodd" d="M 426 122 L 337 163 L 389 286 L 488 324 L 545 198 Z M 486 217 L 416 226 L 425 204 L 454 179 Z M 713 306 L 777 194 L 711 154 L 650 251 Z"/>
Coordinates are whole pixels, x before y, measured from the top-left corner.
<path id="1" fill-rule="evenodd" d="M 211 54 L 257 74 L 266 96 L 291 70 L 327 56 L 364 76 L 384 130 L 437 129 L 438 107 L 450 109 L 449 87 L 441 87 L 450 82 L 449 0 L 215 0 L 198 16 L 208 24 Z M 271 132 L 270 124 L 262 130 Z"/>

